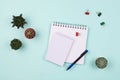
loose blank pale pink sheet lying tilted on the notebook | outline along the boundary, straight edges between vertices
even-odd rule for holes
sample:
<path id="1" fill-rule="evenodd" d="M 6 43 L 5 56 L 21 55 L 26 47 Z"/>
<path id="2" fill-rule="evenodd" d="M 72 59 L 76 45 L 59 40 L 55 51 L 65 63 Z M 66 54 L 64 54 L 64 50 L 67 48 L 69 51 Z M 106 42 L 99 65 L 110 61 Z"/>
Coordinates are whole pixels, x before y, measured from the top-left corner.
<path id="1" fill-rule="evenodd" d="M 68 36 L 54 33 L 48 45 L 46 60 L 63 66 L 72 47 L 73 41 L 74 40 Z"/>

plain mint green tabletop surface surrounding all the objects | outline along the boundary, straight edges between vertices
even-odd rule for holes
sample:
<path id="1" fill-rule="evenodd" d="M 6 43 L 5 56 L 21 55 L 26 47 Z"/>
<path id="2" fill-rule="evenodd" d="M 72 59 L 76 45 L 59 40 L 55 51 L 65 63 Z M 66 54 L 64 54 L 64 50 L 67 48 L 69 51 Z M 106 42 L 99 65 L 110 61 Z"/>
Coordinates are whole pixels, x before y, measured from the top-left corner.
<path id="1" fill-rule="evenodd" d="M 0 80 L 119 80 L 120 79 L 120 1 L 119 0 L 0 0 Z M 89 9 L 90 15 L 84 15 Z M 98 17 L 97 11 L 103 15 Z M 12 15 L 23 14 L 25 28 L 12 28 Z M 84 65 L 66 71 L 45 60 L 50 24 L 53 21 L 85 24 L 89 28 Z M 105 26 L 100 22 L 105 21 Z M 24 37 L 26 28 L 36 30 L 36 37 Z M 18 38 L 23 47 L 9 46 Z M 101 70 L 94 62 L 106 57 L 108 66 Z"/>

